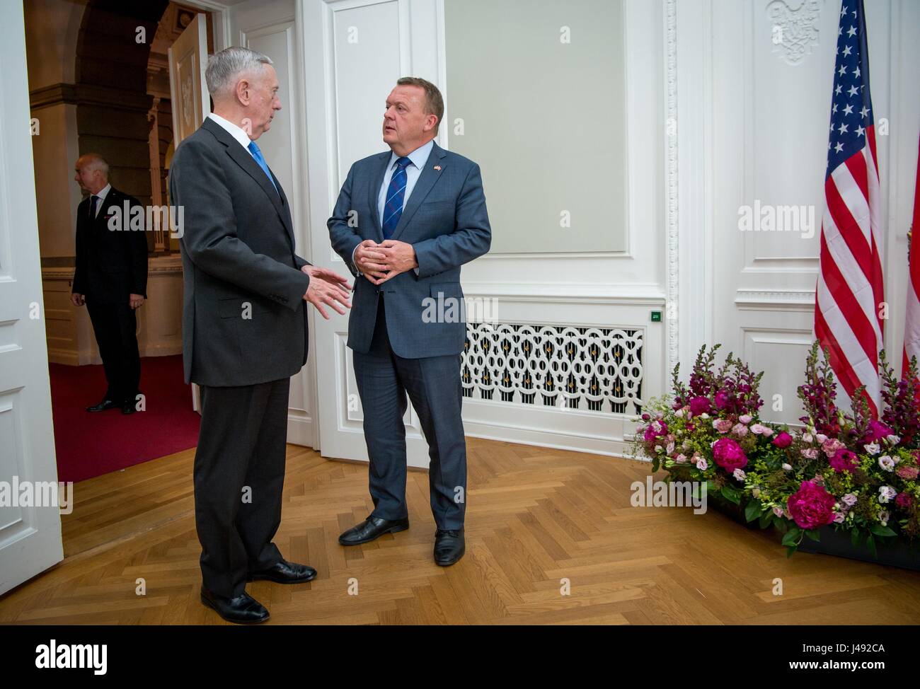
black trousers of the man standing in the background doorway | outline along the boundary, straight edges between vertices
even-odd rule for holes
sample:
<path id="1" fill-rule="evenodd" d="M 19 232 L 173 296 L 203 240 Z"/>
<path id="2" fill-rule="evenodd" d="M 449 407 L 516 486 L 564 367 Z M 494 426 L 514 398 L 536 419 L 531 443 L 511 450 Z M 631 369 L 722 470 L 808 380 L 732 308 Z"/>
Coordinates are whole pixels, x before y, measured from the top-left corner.
<path id="1" fill-rule="evenodd" d="M 93 324 L 102 368 L 106 372 L 104 399 L 117 404 L 134 402 L 141 383 L 141 356 L 137 347 L 137 315 L 131 305 L 99 304 L 86 296 L 86 310 Z"/>

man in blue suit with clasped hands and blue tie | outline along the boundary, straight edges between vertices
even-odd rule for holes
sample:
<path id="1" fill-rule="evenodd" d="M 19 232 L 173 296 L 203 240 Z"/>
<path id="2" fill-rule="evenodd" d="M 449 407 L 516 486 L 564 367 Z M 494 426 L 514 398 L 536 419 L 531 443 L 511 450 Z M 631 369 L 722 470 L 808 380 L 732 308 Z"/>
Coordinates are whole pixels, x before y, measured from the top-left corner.
<path id="1" fill-rule="evenodd" d="M 351 166 L 328 228 L 356 278 L 348 346 L 374 500 L 374 511 L 339 543 L 360 545 L 408 529 L 408 393 L 431 456 L 434 561 L 447 566 L 466 549 L 460 266 L 489 251 L 491 229 L 479 166 L 434 143 L 443 111 L 437 86 L 415 77 L 397 81 L 384 113 L 390 151 Z"/>

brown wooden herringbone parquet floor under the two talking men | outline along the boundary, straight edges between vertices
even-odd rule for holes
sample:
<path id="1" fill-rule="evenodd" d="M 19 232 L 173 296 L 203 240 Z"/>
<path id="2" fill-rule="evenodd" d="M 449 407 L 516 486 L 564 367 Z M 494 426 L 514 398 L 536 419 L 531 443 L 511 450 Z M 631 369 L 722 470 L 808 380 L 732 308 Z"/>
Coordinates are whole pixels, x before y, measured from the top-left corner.
<path id="1" fill-rule="evenodd" d="M 319 576 L 249 584 L 270 609 L 268 624 L 920 622 L 920 573 L 803 553 L 787 559 L 769 535 L 717 512 L 631 507 L 642 463 L 467 442 L 466 557 L 451 568 L 431 561 L 426 473 L 408 475 L 408 531 L 345 548 L 339 533 L 370 511 L 367 466 L 289 445 L 275 543 Z M 0 598 L 0 622 L 226 624 L 199 602 L 193 455 L 75 486 L 63 563 Z M 139 578 L 145 595 L 135 592 Z M 776 578 L 782 595 L 772 592 Z"/>

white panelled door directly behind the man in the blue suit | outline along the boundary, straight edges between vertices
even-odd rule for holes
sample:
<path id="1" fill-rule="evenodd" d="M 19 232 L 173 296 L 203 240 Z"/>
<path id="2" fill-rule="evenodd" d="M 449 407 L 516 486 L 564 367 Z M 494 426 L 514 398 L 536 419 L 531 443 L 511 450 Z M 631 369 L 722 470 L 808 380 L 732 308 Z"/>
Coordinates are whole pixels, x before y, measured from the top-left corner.
<path id="1" fill-rule="evenodd" d="M 397 79 L 413 74 L 437 83 L 433 7 L 407 0 L 303 3 L 311 260 L 350 278 L 329 245 L 326 222 L 351 164 L 386 150 L 381 138 L 384 102 Z M 419 22 L 428 23 L 425 30 L 409 30 Z M 411 39 L 423 35 L 430 40 Z M 361 402 L 351 350 L 345 346 L 348 316 L 332 312 L 327 321 L 314 313 L 311 328 L 320 451 L 366 462 Z M 405 422 L 408 465 L 427 467 L 428 445 L 411 405 Z"/>

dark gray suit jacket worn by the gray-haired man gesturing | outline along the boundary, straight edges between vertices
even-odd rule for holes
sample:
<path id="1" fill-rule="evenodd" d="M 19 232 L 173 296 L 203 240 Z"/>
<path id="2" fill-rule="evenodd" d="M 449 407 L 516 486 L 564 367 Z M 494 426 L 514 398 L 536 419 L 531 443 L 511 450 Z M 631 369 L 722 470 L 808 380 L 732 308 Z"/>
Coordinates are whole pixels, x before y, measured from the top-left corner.
<path id="1" fill-rule="evenodd" d="M 184 209 L 182 355 L 186 383 L 256 385 L 306 362 L 310 265 L 294 254 L 282 185 L 211 119 L 179 144 L 169 168 Z M 280 193 L 280 195 L 279 195 Z"/>

